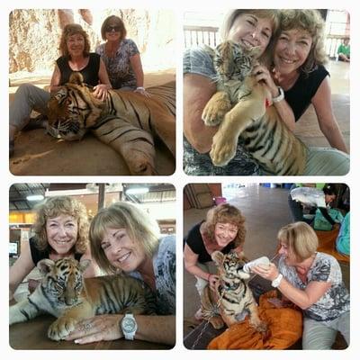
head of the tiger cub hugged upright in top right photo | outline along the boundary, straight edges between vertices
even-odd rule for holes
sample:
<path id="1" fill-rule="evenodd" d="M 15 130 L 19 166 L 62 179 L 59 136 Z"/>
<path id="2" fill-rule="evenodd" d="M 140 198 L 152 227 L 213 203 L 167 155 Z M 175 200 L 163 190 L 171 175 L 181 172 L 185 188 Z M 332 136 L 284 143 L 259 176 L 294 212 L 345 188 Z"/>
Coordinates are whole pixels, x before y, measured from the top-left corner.
<path id="1" fill-rule="evenodd" d="M 217 80 L 220 82 L 244 81 L 245 77 L 251 73 L 259 52 L 259 47 L 247 49 L 235 41 L 221 42 L 215 49 L 213 59 Z"/>

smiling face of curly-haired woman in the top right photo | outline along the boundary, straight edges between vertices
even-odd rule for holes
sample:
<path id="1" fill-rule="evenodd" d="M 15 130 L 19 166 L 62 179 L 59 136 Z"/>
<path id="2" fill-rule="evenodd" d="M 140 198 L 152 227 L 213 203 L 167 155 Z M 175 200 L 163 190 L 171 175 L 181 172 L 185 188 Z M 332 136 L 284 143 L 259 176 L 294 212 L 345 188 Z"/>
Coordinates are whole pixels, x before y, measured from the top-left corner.
<path id="1" fill-rule="evenodd" d="M 283 75 L 291 74 L 302 67 L 312 45 L 311 34 L 306 30 L 282 31 L 275 44 L 274 64 Z"/>

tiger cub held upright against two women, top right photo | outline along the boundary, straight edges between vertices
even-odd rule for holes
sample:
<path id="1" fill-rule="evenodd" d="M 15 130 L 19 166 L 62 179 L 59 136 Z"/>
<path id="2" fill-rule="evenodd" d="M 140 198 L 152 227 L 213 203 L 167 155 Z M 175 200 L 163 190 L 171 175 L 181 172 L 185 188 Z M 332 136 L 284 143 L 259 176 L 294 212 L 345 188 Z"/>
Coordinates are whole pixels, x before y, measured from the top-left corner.
<path id="1" fill-rule="evenodd" d="M 206 125 L 220 124 L 212 139 L 211 160 L 225 166 L 236 154 L 238 137 L 248 153 L 270 175 L 302 175 L 307 148 L 271 104 L 265 85 L 250 76 L 258 48 L 245 49 L 227 40 L 209 48 L 217 73 L 217 92 L 202 112 Z"/>

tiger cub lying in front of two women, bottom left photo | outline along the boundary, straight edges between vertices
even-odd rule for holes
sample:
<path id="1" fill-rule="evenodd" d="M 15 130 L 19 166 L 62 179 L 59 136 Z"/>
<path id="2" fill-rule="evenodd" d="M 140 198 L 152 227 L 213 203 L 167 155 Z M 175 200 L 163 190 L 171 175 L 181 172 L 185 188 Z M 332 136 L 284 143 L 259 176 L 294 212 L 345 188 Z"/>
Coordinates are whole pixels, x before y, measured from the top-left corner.
<path id="1" fill-rule="evenodd" d="M 44 277 L 26 300 L 10 307 L 10 325 L 49 313 L 58 320 L 50 325 L 48 337 L 61 340 L 77 322 L 95 315 L 156 313 L 156 298 L 148 285 L 123 275 L 83 279 L 89 264 L 90 260 L 79 263 L 68 257 L 56 262 L 40 260 L 38 267 Z"/>

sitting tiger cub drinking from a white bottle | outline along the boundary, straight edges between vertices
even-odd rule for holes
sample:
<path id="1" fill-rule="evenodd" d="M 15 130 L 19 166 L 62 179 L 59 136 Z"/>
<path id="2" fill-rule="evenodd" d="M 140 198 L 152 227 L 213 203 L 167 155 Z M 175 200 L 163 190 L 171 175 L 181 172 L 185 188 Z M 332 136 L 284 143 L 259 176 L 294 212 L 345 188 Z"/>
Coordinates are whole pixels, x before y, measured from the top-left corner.
<path id="1" fill-rule="evenodd" d="M 250 277 L 242 271 L 245 262 L 235 252 L 222 254 L 214 251 L 212 260 L 218 266 L 219 282 L 215 293 L 207 285 L 202 293 L 202 316 L 211 322 L 215 329 L 229 327 L 243 320 L 249 314 L 250 324 L 260 332 L 266 332 L 266 323 L 262 322 L 257 313 L 257 302 L 247 284 Z"/>

